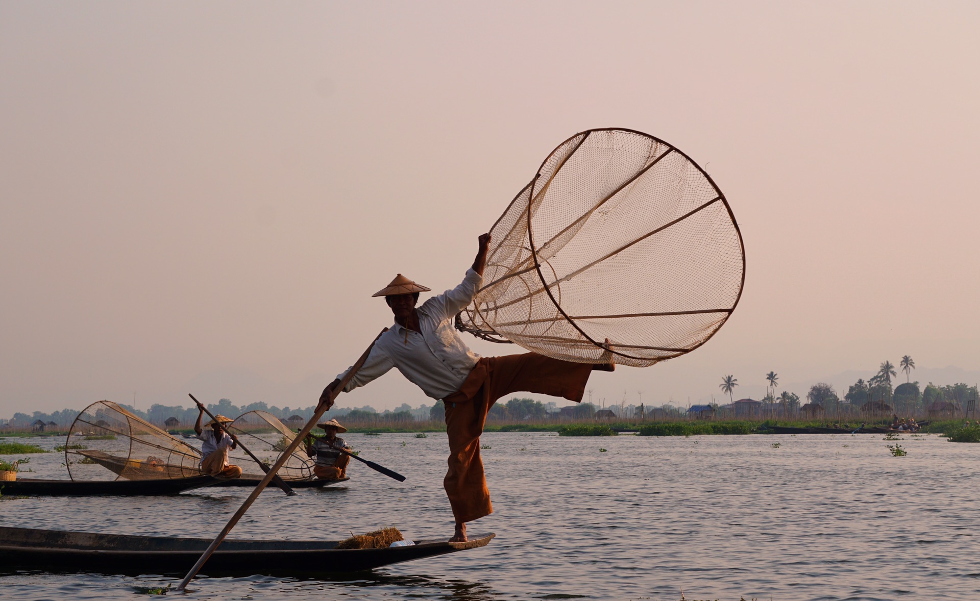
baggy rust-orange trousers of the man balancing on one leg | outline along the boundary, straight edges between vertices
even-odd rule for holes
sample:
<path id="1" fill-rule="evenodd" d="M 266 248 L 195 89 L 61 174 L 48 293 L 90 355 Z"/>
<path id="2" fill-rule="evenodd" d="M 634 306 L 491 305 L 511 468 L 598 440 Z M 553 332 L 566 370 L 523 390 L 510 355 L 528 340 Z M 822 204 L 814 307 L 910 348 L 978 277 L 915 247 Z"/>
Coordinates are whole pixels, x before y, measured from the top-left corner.
<path id="1" fill-rule="evenodd" d="M 510 393 L 541 393 L 581 402 L 591 373 L 589 363 L 536 352 L 482 357 L 476 362 L 460 390 L 443 399 L 449 435 L 449 471 L 443 486 L 457 522 L 493 513 L 480 459 L 480 435 L 497 399 Z"/>

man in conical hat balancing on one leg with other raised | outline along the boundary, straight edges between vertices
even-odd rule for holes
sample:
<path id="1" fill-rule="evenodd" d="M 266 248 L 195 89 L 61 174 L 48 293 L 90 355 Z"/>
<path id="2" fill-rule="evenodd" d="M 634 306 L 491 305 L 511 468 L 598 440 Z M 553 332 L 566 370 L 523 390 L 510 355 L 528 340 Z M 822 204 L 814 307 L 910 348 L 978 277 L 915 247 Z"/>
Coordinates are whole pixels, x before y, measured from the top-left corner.
<path id="1" fill-rule="evenodd" d="M 553 359 L 536 352 L 480 357 L 463 343 L 453 318 L 468 305 L 483 281 L 490 234 L 479 237 L 479 251 L 463 283 L 416 307 L 418 294 L 429 288 L 398 274 L 374 297 L 384 297 L 395 324 L 378 338 L 368 360 L 354 374 L 345 393 L 365 386 L 392 367 L 398 368 L 423 393 L 446 405 L 449 471 L 443 480 L 456 519 L 451 541 L 466 540 L 466 523 L 490 515 L 490 491 L 480 459 L 480 435 L 487 412 L 510 393 L 542 393 L 581 402 L 593 369 L 613 371 L 609 363 L 590 365 Z M 350 370 L 348 370 L 350 371 Z M 344 372 L 327 385 L 320 403 L 329 402 Z"/>

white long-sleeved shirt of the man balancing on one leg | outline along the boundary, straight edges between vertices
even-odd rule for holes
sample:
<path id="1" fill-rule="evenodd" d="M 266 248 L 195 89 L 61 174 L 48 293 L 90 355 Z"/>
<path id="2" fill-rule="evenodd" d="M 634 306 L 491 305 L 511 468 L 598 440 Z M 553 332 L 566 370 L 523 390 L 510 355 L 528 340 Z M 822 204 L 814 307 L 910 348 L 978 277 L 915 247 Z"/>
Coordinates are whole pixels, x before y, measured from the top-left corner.
<path id="1" fill-rule="evenodd" d="M 392 367 L 432 398 L 445 398 L 460 390 L 479 355 L 469 350 L 453 327 L 453 318 L 469 304 L 483 276 L 466 270 L 463 283 L 417 307 L 421 333 L 395 322 L 371 348 L 368 360 L 344 388 L 350 393 L 380 378 Z M 407 337 L 407 338 L 406 338 Z M 347 372 L 337 376 L 342 379 Z"/>

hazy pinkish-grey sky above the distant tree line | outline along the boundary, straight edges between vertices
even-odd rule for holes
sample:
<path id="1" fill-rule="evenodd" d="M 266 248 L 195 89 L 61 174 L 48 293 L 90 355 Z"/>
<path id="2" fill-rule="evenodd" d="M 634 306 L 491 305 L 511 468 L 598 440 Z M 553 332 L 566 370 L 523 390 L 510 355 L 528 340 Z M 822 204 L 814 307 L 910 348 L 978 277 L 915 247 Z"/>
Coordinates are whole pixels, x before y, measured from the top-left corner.
<path id="1" fill-rule="evenodd" d="M 978 26 L 976 2 L 0 2 L 0 417 L 313 404 L 391 323 L 373 292 L 458 284 L 545 156 L 608 126 L 707 168 L 748 269 L 711 342 L 594 400 L 725 374 L 758 398 L 769 370 L 803 395 L 903 354 L 971 377 Z M 338 402 L 406 401 L 392 372 Z"/>

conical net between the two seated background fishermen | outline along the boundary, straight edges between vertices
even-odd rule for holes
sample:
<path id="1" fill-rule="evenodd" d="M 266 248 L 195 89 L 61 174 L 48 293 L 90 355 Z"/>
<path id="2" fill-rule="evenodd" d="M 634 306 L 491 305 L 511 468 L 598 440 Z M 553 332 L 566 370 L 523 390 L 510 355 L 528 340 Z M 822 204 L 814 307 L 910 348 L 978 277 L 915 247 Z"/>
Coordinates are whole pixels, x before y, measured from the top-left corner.
<path id="1" fill-rule="evenodd" d="M 266 465 L 271 466 L 287 446 L 296 438 L 277 417 L 268 411 L 248 411 L 228 424 L 228 431 Z M 246 472 L 255 472 L 256 478 L 263 474 L 255 461 L 241 450 L 232 451 L 231 463 L 241 466 Z M 301 444 L 279 468 L 278 476 L 283 480 L 312 480 L 314 461 L 306 456 Z M 246 474 L 246 477 L 253 475 Z"/>

